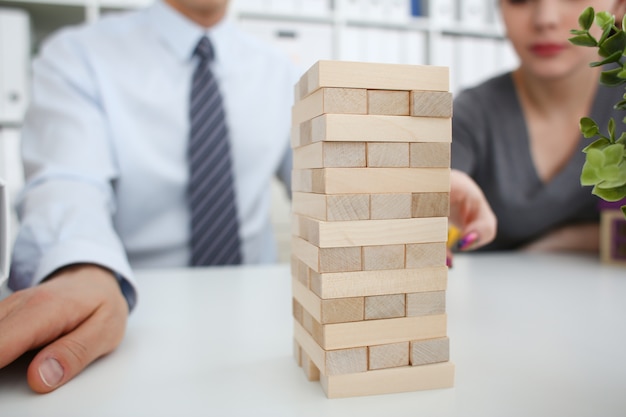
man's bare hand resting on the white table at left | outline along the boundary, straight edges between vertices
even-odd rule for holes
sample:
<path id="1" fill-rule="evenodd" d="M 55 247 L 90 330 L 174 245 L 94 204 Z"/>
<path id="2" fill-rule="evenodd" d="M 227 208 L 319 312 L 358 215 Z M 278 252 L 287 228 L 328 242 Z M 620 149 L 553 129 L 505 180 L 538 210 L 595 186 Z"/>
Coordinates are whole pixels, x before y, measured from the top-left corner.
<path id="1" fill-rule="evenodd" d="M 122 341 L 128 305 L 107 269 L 73 265 L 0 301 L 0 368 L 43 347 L 28 384 L 46 393 L 65 384 Z"/>

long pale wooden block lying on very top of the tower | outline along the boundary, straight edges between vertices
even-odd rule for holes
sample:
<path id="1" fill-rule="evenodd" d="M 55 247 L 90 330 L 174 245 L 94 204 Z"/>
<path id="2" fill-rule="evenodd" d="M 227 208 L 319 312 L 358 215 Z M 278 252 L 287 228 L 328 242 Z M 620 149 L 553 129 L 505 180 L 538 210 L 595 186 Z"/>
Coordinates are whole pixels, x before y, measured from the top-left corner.
<path id="1" fill-rule="evenodd" d="M 296 101 L 322 87 L 449 91 L 450 71 L 432 65 L 321 60 L 300 78 Z"/>

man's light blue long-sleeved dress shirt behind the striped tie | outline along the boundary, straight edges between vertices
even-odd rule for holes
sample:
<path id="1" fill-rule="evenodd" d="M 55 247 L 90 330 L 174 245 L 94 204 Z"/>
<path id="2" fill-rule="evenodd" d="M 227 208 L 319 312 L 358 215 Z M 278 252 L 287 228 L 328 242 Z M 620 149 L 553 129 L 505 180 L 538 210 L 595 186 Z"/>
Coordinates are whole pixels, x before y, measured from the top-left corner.
<path id="1" fill-rule="evenodd" d="M 298 70 L 233 22 L 206 31 L 157 1 L 64 29 L 35 60 L 13 289 L 78 262 L 131 284 L 134 268 L 188 264 L 188 100 L 204 34 L 232 140 L 244 262 L 275 261 L 270 182 L 278 175 L 290 189 Z"/>

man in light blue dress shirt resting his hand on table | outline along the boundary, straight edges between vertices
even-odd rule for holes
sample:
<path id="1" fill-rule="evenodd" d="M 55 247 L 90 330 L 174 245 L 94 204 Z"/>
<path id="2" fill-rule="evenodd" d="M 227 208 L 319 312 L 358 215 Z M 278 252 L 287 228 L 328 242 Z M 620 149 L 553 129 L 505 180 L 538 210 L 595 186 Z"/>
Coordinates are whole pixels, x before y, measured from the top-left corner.
<path id="1" fill-rule="evenodd" d="M 278 175 L 290 188 L 299 74 L 227 21 L 227 3 L 165 0 L 66 29 L 34 63 L 10 284 L 41 285 L 0 303 L 0 367 L 45 346 L 28 369 L 37 392 L 61 386 L 120 343 L 136 299 L 132 269 L 190 265 L 190 95 L 204 36 L 230 146 L 235 263 L 275 260 L 270 180 Z"/>

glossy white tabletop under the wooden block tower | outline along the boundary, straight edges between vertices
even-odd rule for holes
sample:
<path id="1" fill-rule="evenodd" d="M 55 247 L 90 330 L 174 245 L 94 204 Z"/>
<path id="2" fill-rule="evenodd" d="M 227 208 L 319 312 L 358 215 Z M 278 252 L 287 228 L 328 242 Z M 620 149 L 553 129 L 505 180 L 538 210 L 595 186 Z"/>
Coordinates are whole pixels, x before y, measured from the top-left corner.
<path id="1" fill-rule="evenodd" d="M 455 387 L 332 400 L 293 359 L 287 265 L 139 280 L 114 353 L 46 395 L 0 370 L 0 416 L 626 416 L 626 269 L 595 258 L 457 256 Z"/>

